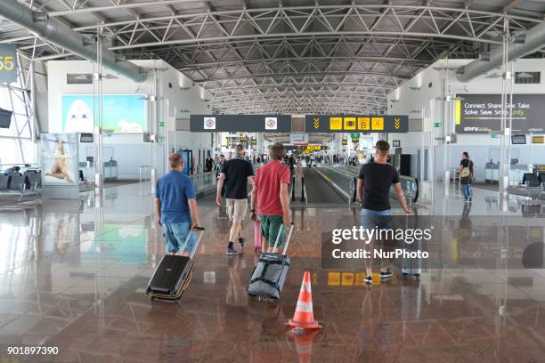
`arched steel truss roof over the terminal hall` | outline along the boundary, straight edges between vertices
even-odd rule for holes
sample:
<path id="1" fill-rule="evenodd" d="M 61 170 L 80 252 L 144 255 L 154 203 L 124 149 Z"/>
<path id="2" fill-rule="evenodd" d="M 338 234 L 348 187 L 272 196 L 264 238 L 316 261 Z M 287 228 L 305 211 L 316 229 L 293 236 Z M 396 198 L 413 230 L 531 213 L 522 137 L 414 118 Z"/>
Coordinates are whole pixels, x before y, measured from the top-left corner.
<path id="1" fill-rule="evenodd" d="M 386 94 L 440 58 L 477 58 L 524 34 L 527 0 L 20 0 L 128 59 L 167 60 L 218 113 L 381 113 Z M 69 52 L 0 23 L 0 43 L 34 60 Z"/>

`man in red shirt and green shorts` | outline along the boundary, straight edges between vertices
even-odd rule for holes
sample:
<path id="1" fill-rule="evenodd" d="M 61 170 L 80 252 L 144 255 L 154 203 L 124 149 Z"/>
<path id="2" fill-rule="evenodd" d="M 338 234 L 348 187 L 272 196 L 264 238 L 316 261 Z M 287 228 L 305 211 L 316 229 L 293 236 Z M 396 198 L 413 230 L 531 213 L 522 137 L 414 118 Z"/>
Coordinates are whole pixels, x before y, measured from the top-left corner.
<path id="1" fill-rule="evenodd" d="M 278 248 L 273 249 L 282 223 L 291 224 L 289 215 L 289 167 L 281 162 L 286 157 L 286 149 L 277 142 L 269 149 L 271 161 L 257 169 L 252 189 L 251 217 L 253 221 L 259 218 L 261 231 L 264 238 L 269 241 L 269 251 L 277 253 Z M 257 206 L 257 211 L 256 211 Z M 278 241 L 280 247 L 286 239 L 284 228 Z"/>

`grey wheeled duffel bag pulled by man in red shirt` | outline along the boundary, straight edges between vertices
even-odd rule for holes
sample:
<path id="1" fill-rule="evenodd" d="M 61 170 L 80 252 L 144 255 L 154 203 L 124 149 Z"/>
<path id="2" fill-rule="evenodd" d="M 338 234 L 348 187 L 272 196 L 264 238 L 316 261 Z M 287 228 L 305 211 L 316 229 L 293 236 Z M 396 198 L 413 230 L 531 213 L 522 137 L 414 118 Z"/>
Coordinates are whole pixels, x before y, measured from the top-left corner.
<path id="1" fill-rule="evenodd" d="M 283 228 L 284 225 L 282 224 L 278 231 L 274 248 L 278 246 Z M 248 285 L 248 295 L 273 300 L 280 299 L 289 270 L 289 257 L 286 255 L 286 251 L 288 250 L 289 238 L 291 238 L 292 232 L 293 224 L 289 228 L 286 244 L 281 254 L 263 253 L 259 256 Z"/>

